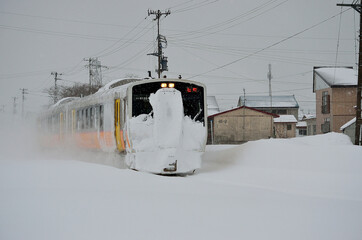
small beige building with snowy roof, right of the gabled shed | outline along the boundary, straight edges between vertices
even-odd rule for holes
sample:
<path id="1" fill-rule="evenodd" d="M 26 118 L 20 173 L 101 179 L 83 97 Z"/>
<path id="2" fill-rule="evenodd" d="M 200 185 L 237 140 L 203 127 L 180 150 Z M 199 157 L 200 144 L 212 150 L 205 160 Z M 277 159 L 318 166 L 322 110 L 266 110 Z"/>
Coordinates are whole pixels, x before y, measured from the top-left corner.
<path id="1" fill-rule="evenodd" d="M 276 138 L 293 138 L 296 136 L 297 119 L 294 115 L 280 115 L 274 118 Z"/>

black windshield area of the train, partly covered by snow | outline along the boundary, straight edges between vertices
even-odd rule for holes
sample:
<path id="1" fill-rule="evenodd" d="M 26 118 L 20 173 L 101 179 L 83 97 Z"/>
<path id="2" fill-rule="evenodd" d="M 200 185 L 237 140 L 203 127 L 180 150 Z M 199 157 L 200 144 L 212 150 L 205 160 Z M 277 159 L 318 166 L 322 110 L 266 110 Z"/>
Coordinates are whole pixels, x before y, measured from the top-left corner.
<path id="1" fill-rule="evenodd" d="M 160 81 L 133 86 L 132 89 L 132 116 L 151 114 L 152 106 L 149 102 L 151 93 L 160 88 L 175 88 L 181 92 L 184 115 L 195 121 L 205 123 L 204 119 L 204 88 L 187 82 Z"/>

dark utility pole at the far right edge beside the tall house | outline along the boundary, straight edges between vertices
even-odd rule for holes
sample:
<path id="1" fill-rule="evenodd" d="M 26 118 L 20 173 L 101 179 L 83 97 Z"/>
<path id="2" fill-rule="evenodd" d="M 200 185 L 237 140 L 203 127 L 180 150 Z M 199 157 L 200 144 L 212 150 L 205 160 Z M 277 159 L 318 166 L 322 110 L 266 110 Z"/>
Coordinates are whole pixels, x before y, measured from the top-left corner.
<path id="1" fill-rule="evenodd" d="M 359 3 L 358 3 L 359 2 Z M 353 0 L 352 4 L 337 4 L 341 7 L 351 7 L 360 14 L 360 24 L 359 24 L 359 56 L 358 56 L 358 82 L 357 82 L 357 109 L 356 109 L 356 132 L 355 132 L 355 145 L 361 145 L 361 93 L 362 93 L 362 4 L 358 0 Z"/>

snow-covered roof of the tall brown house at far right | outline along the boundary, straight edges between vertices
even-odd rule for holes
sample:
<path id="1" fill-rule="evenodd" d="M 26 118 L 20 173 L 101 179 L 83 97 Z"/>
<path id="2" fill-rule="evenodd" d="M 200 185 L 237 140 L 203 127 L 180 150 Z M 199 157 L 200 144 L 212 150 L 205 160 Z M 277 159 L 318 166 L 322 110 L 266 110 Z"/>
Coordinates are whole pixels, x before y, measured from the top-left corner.
<path id="1" fill-rule="evenodd" d="M 346 67 L 321 67 L 315 68 L 319 75 L 329 86 L 357 85 L 357 73 L 352 68 Z"/>

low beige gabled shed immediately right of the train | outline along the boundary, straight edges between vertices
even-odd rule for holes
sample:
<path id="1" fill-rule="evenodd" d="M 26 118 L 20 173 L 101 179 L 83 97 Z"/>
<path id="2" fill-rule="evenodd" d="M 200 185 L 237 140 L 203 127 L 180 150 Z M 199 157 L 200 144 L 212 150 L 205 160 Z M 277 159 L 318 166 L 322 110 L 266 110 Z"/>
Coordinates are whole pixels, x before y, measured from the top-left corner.
<path id="1" fill-rule="evenodd" d="M 240 144 L 273 136 L 276 114 L 238 107 L 208 117 L 208 144 Z"/>

